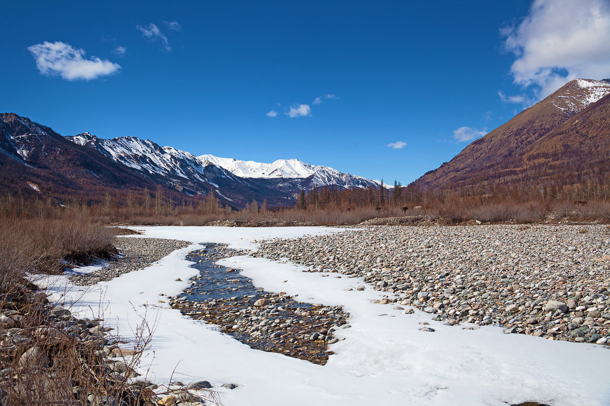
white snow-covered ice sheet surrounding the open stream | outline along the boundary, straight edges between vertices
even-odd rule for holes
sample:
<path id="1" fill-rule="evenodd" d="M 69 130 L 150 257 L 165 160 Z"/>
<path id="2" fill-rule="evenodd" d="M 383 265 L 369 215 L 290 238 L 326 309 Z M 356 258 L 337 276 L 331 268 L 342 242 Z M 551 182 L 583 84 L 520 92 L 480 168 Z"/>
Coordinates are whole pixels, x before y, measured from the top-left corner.
<path id="1" fill-rule="evenodd" d="M 138 228 L 139 229 L 139 228 Z M 145 235 L 226 243 L 256 249 L 253 240 L 339 232 L 326 227 L 144 227 Z M 192 246 L 174 251 L 146 269 L 94 287 L 71 286 L 65 277 L 51 280 L 54 299 L 76 301 L 73 311 L 96 316 L 124 337 L 133 335 L 141 317 L 156 326 L 142 370 L 156 383 L 206 379 L 218 388 L 223 404 L 242 405 L 447 405 L 501 406 L 537 401 L 551 405 L 610 405 L 610 351 L 595 344 L 549 341 L 504 334 L 500 327 L 465 330 L 445 326 L 416 311 L 401 314 L 395 305 L 371 304 L 382 292 L 360 278 L 301 272 L 303 266 L 264 258 L 232 257 L 221 265 L 243 269 L 266 291 L 285 291 L 297 301 L 343 305 L 351 328 L 339 329 L 325 366 L 250 349 L 217 327 L 169 308 L 160 293 L 174 296 L 197 274 L 185 260 Z M 287 280 L 287 282 L 283 282 Z M 67 287 L 67 290 L 66 290 Z M 347 288 L 354 290 L 346 291 Z M 166 300 L 167 301 L 167 300 Z M 419 322 L 435 332 L 423 332 Z"/>

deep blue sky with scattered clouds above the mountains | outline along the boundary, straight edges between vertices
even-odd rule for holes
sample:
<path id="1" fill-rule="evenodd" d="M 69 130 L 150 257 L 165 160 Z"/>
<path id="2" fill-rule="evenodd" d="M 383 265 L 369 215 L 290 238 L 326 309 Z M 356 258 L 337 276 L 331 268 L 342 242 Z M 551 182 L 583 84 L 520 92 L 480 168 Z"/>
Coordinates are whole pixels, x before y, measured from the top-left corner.
<path id="1" fill-rule="evenodd" d="M 609 10 L 606 0 L 9 1 L 0 112 L 62 135 L 299 158 L 407 184 L 568 80 L 610 77 Z"/>

